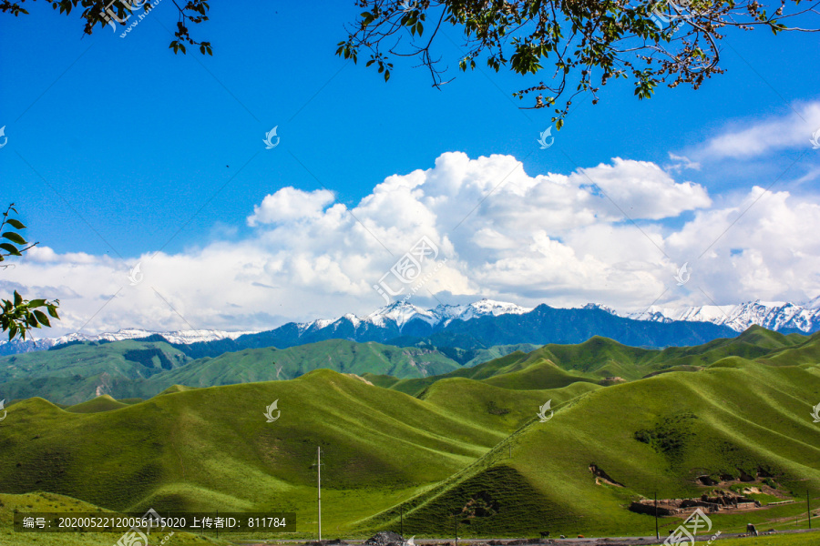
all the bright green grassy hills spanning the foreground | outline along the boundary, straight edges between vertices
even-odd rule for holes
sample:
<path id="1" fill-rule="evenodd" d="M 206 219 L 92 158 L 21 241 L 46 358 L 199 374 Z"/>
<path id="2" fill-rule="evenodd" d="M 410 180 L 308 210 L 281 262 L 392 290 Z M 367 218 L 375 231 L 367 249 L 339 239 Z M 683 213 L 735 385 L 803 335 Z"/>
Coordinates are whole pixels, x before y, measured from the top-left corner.
<path id="1" fill-rule="evenodd" d="M 417 535 L 445 534 L 456 522 L 465 536 L 651 534 L 652 518 L 628 511 L 630 501 L 717 487 L 701 476 L 769 477 L 786 499 L 820 491 L 820 427 L 809 415 L 820 402 L 820 370 L 808 361 L 820 337 L 747 334 L 737 347 L 670 355 L 716 359 L 698 371 L 610 387 L 518 353 L 456 370 L 471 377 L 404 379 L 427 381 L 417 397 L 318 369 L 298 379 L 177 386 L 128 405 L 100 398 L 62 410 L 26 399 L 8 406 L 0 424 L 0 492 L 44 490 L 118 511 L 294 511 L 309 533 L 321 446 L 330 533 L 395 529 L 401 510 L 405 531 Z M 613 343 L 564 350 L 593 361 L 630 354 Z M 766 345 L 759 359 L 733 356 Z M 662 369 L 662 360 L 634 350 L 641 373 Z M 730 356 L 717 359 L 722 353 Z M 554 416 L 539 422 L 548 399 Z M 273 400 L 282 414 L 268 423 L 262 413 Z M 713 519 L 729 532 L 747 519 L 794 524 L 802 510 L 784 504 Z"/>

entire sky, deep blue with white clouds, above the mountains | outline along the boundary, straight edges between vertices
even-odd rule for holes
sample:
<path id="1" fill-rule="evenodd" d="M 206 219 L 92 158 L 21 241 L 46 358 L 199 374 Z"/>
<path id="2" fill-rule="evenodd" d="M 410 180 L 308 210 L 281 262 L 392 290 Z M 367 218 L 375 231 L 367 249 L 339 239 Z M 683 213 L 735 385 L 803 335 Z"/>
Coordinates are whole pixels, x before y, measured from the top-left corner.
<path id="1" fill-rule="evenodd" d="M 715 255 L 712 266 L 702 267 L 702 286 L 668 286 L 669 270 L 674 273 L 686 260 L 710 258 L 696 256 L 697 244 L 717 238 L 724 227 L 753 233 L 783 219 L 766 217 L 765 210 L 775 215 L 781 206 L 787 216 L 799 210 L 804 216 L 798 225 L 814 226 L 820 151 L 811 149 L 809 139 L 820 128 L 820 117 L 813 117 L 820 100 L 816 35 L 730 33 L 723 45 L 723 76 L 697 91 L 661 87 L 648 101 L 635 99 L 629 85 L 612 83 L 602 89 L 598 105 L 576 101 L 566 126 L 553 131 L 555 145 L 541 150 L 536 139 L 550 125 L 548 111 L 520 110 L 510 97 L 535 80 L 486 69 L 454 70 L 456 80 L 436 90 L 423 69 L 404 63 L 385 84 L 374 71 L 334 56 L 343 23 L 358 12 L 354 3 L 255 4 L 251 13 L 212 3 L 210 22 L 194 27 L 213 44 L 212 57 L 170 52 L 166 28 L 173 27 L 176 15 L 169 0 L 126 38 L 108 28 L 83 37 L 78 16 L 56 15 L 41 3 L 27 6 L 31 15 L 0 15 L 0 125 L 8 137 L 0 149 L 3 193 L 30 226 L 28 237 L 46 248 L 3 273 L 0 289 L 60 297 L 66 331 L 264 329 L 288 319 L 366 313 L 383 305 L 370 285 L 426 234 L 447 256 L 443 271 L 448 273 L 414 297 L 422 307 L 487 296 L 524 305 L 598 301 L 645 308 L 655 300 L 668 305 L 805 300 L 820 290 L 811 272 L 815 248 L 784 240 L 771 245 L 774 232 L 762 232 L 759 240 L 724 238 L 725 256 Z M 454 29 L 446 32 L 458 41 Z M 440 42 L 439 53 L 453 68 L 461 56 L 447 40 Z M 262 138 L 272 126 L 278 126 L 282 140 L 266 150 Z M 548 184 L 559 186 L 568 183 L 560 177 L 571 182 L 579 167 L 615 166 L 613 158 L 620 157 L 634 164 L 614 168 L 613 173 L 626 173 L 626 178 L 612 174 L 618 184 L 630 179 L 632 187 L 640 187 L 648 177 L 674 191 L 662 197 L 646 182 L 646 192 L 638 195 L 612 182 L 609 203 L 618 205 L 620 218 L 617 211 L 584 212 L 570 203 L 579 215 L 598 220 L 560 225 L 541 224 L 538 218 L 575 212 L 558 205 L 526 210 L 538 203 L 524 195 L 531 189 L 526 182 L 518 184 L 523 194 L 505 187 L 506 197 L 495 203 L 487 191 L 452 194 L 463 200 L 464 210 L 478 207 L 471 220 L 476 223 L 460 227 L 475 235 L 468 240 L 448 235 L 457 218 L 447 215 L 457 216 L 461 208 L 430 205 L 436 195 L 446 195 L 442 182 L 438 187 L 444 193 L 423 192 L 414 201 L 429 205 L 408 213 L 417 232 L 403 227 L 402 213 L 394 211 L 391 225 L 390 215 L 374 212 L 359 219 L 373 223 L 377 241 L 356 243 L 362 224 L 342 222 L 326 228 L 333 237 L 347 238 L 323 248 L 323 241 L 333 239 L 320 229 L 333 202 L 343 205 L 343 216 L 355 216 L 362 199 L 373 197 L 374 187 L 386 178 L 434 169 L 436 158 L 447 152 L 469 161 L 509 157 L 511 166 L 515 160 L 523 163 L 521 172 L 528 177 L 551 173 L 555 177 Z M 670 154 L 700 168 L 682 168 L 684 160 Z M 455 172 L 456 164 L 470 171 L 464 161 L 448 161 L 441 162 L 442 177 Z M 490 163 L 479 167 L 501 172 L 507 165 L 501 159 Z M 656 170 L 641 171 L 648 165 Z M 770 201 L 774 194 L 768 194 L 750 209 L 760 208 L 760 215 L 749 213 L 733 225 L 760 197 L 753 188 L 770 187 L 775 180 L 772 190 L 779 197 Z M 476 182 L 474 189 L 482 184 Z M 285 187 L 302 193 L 282 193 Z M 270 204 L 281 208 L 290 196 L 289 203 L 305 203 L 308 212 L 265 217 L 263 200 L 274 195 Z M 647 200 L 655 197 L 660 200 L 650 206 Z M 681 206 L 672 206 L 674 201 Z M 256 225 L 249 220 L 254 207 L 261 207 L 263 219 Z M 408 207 L 401 210 L 413 209 Z M 436 220 L 426 227 L 413 224 L 430 211 Z M 507 222 L 517 211 L 533 218 L 531 229 Z M 643 232 L 637 236 L 636 225 Z M 379 229 L 384 237 L 378 237 Z M 498 242 L 502 235 L 507 242 Z M 631 249 L 651 243 L 646 252 L 654 252 L 651 247 L 659 252 L 647 254 L 645 261 L 655 265 L 607 256 L 615 248 L 606 244 L 607 237 Z M 508 242 L 525 239 L 527 245 L 518 250 Z M 240 249 L 247 252 L 237 256 Z M 128 268 L 144 262 L 150 280 L 147 260 L 160 250 L 166 262 L 156 269 L 153 288 L 129 287 Z M 781 256 L 785 251 L 788 258 Z M 549 263 L 562 256 L 571 263 L 561 268 L 564 274 L 544 270 L 541 276 L 544 264 L 530 260 L 528 252 Z M 743 256 L 745 261 L 738 258 Z M 199 265 L 193 263 L 197 260 Z M 197 273 L 228 262 L 236 268 L 228 277 Z M 691 269 L 696 278 L 697 268 Z M 176 278 L 178 273 L 182 277 Z M 324 280 L 304 280 L 313 275 Z M 118 285 L 125 288 L 118 292 Z M 249 285 L 276 289 L 246 300 L 241 295 Z M 128 299 L 132 289 L 142 292 Z M 112 298 L 108 310 L 95 312 Z M 123 315 L 136 308 L 141 310 Z"/>

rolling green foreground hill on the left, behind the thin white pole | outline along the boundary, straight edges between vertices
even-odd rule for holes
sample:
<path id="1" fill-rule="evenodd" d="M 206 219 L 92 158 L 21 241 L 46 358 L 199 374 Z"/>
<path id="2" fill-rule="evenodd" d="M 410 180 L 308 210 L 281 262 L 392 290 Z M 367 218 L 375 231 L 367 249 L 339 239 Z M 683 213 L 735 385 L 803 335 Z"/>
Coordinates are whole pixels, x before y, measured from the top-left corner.
<path id="1" fill-rule="evenodd" d="M 26 399 L 0 426 L 0 484 L 118 511 L 296 511 L 308 530 L 321 445 L 325 519 L 342 525 L 466 467 L 545 397 L 570 396 L 476 384 L 439 403 L 317 370 L 93 413 Z M 268 423 L 273 400 L 282 414 Z"/>

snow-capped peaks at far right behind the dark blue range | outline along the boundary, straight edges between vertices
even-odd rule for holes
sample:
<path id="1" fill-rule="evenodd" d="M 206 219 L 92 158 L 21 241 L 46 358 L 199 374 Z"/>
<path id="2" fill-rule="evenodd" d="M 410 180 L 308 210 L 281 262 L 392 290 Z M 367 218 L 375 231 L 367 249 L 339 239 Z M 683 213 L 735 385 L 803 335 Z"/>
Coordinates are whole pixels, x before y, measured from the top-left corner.
<path id="1" fill-rule="evenodd" d="M 620 314 L 635 320 L 667 322 L 712 322 L 742 332 L 753 324 L 766 329 L 812 333 L 820 330 L 820 298 L 798 305 L 784 301 L 750 301 L 739 305 L 704 305 L 689 308 L 660 308 L 653 306 L 645 312 Z"/>

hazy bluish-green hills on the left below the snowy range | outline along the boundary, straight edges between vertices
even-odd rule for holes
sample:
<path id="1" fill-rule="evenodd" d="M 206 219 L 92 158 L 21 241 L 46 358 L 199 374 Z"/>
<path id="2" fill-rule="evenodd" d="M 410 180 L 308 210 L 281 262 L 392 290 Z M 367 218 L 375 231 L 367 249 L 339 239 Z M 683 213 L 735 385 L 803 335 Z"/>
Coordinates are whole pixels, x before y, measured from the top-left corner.
<path id="1" fill-rule="evenodd" d="M 459 369 L 463 364 L 494 359 L 517 348 L 438 350 L 331 339 L 289 349 L 244 349 L 191 360 L 181 349 L 164 341 L 83 342 L 0 358 L 0 394 L 6 399 L 39 396 L 72 405 L 104 393 L 118 399 L 144 399 L 174 384 L 212 387 L 294 379 L 313 369 L 425 378 Z"/>

